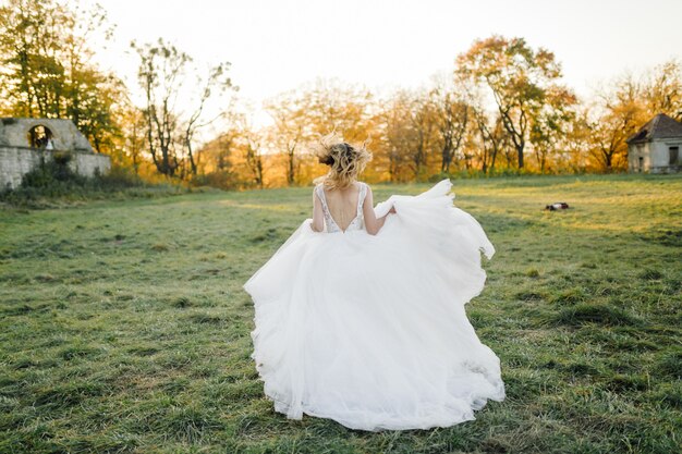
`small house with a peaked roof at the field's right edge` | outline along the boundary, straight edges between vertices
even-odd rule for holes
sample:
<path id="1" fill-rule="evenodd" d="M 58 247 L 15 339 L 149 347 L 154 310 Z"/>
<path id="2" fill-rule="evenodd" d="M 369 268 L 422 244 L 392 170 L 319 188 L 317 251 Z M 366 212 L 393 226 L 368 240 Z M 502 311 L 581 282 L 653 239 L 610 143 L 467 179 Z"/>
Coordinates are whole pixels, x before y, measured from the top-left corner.
<path id="1" fill-rule="evenodd" d="M 630 172 L 671 173 L 682 170 L 682 123 L 659 113 L 628 140 Z"/>

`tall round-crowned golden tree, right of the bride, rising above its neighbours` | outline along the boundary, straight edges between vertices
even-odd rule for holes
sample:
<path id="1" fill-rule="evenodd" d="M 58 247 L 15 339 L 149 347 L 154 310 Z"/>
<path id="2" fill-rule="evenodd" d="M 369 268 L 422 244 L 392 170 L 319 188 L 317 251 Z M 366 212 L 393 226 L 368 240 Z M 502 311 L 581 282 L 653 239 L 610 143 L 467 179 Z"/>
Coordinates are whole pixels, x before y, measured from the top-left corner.
<path id="1" fill-rule="evenodd" d="M 459 75 L 490 89 L 522 169 L 533 122 L 551 100 L 548 90 L 561 77 L 555 54 L 543 48 L 533 50 L 523 38 L 496 35 L 474 41 L 456 63 Z"/>

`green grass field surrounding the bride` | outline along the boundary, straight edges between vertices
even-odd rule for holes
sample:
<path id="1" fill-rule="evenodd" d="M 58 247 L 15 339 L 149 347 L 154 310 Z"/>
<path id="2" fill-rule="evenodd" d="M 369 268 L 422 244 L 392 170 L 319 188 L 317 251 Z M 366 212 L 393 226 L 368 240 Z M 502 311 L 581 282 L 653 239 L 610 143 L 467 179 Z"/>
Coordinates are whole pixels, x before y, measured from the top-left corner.
<path id="1" fill-rule="evenodd" d="M 380 433 L 276 414 L 249 358 L 242 284 L 310 216 L 310 188 L 0 209 L 0 453 L 678 452 L 682 175 L 454 191 L 497 248 L 467 314 L 508 397 Z"/>

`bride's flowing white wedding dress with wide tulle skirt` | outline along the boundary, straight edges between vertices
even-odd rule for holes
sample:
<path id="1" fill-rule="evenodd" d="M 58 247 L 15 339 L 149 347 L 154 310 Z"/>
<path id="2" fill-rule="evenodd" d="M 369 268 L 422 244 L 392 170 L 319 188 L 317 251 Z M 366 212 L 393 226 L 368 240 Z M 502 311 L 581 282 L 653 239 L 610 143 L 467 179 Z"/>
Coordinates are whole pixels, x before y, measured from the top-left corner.
<path id="1" fill-rule="evenodd" d="M 500 360 L 464 305 L 483 290 L 480 253 L 495 248 L 478 222 L 453 206 L 443 180 L 417 196 L 393 195 L 377 235 L 356 218 L 345 232 L 306 219 L 245 284 L 255 303 L 256 368 L 275 409 L 352 429 L 427 429 L 475 419 L 503 401 Z"/>

